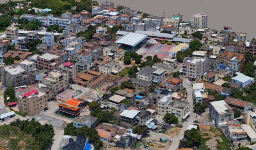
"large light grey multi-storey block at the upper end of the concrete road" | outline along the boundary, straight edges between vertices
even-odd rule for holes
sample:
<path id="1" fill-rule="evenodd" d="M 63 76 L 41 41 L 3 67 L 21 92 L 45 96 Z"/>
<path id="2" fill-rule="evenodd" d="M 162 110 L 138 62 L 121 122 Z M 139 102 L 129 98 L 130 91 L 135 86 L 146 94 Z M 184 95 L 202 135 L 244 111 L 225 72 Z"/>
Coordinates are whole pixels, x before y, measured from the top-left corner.
<path id="1" fill-rule="evenodd" d="M 208 67 L 207 59 L 185 57 L 183 59 L 182 75 L 198 81 L 203 77 L 203 73 L 207 71 Z"/>

